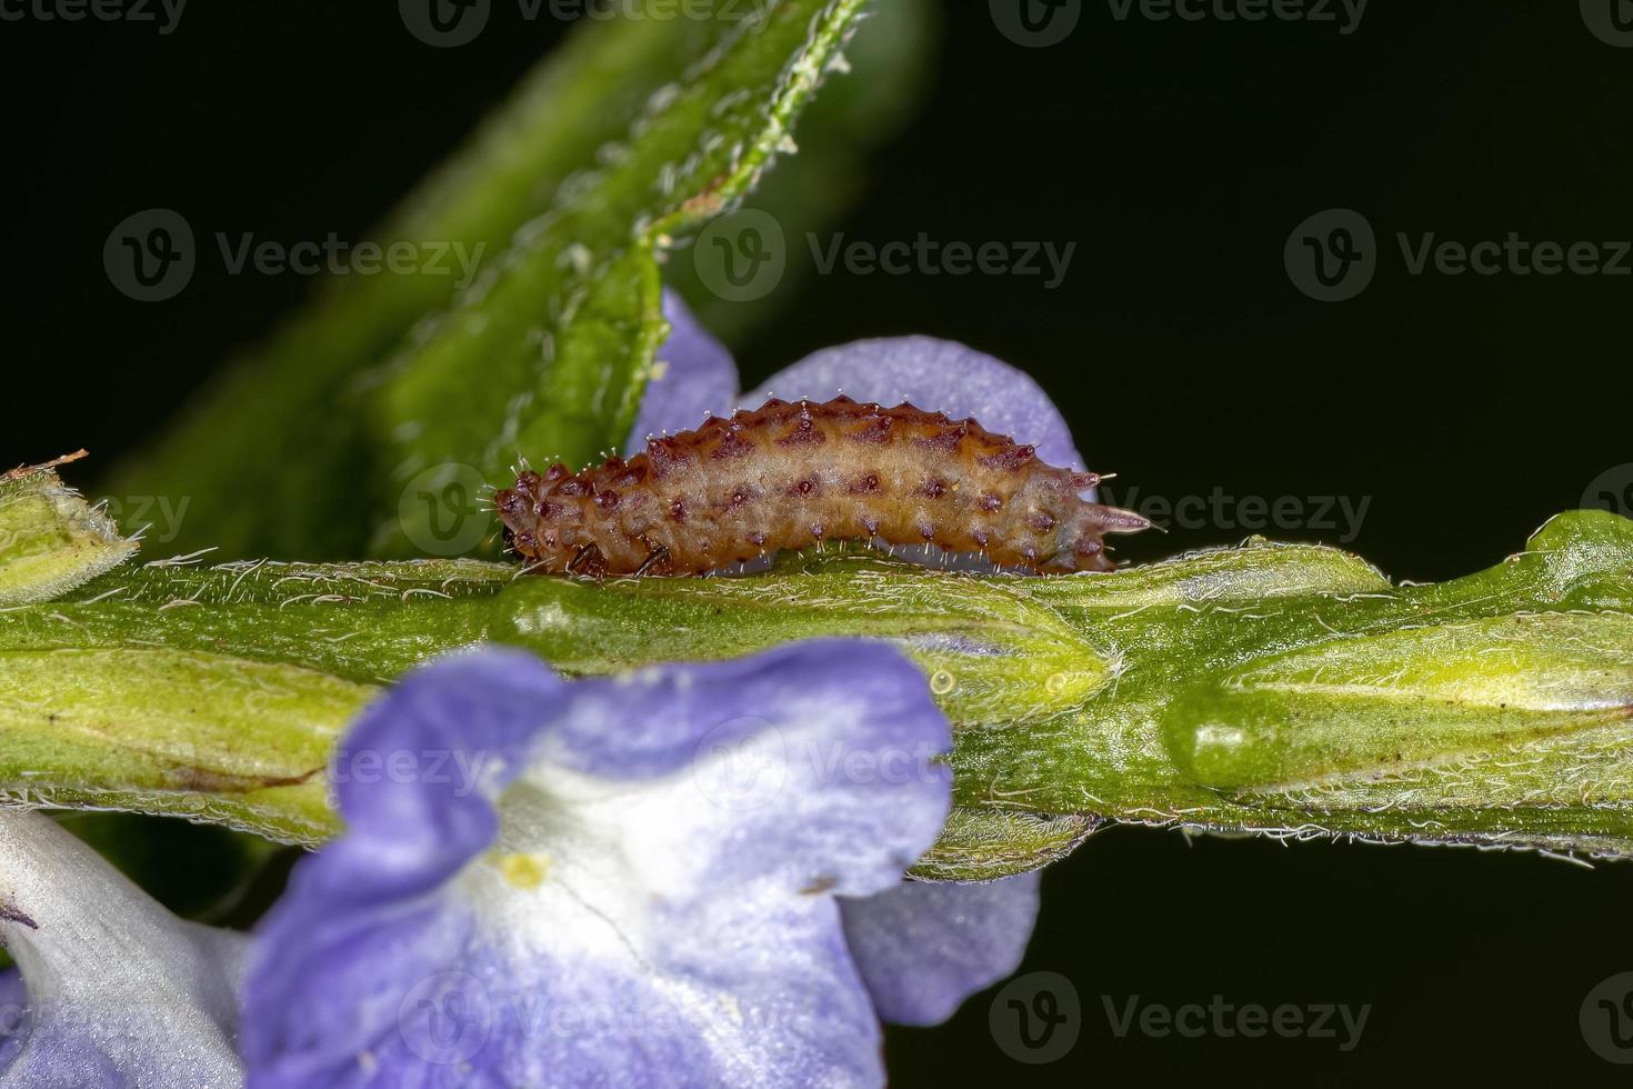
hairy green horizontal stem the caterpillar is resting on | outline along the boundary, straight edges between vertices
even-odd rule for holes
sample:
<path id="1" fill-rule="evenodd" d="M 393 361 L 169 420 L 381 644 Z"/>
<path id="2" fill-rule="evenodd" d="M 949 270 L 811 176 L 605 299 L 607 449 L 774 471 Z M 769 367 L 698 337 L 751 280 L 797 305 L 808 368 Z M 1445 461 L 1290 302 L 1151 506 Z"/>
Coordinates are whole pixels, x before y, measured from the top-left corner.
<path id="1" fill-rule="evenodd" d="M 581 676 L 823 635 L 905 648 L 955 725 L 932 875 L 1027 869 L 1102 820 L 1633 856 L 1633 522 L 1602 513 L 1431 586 L 1269 542 L 1065 578 L 836 549 L 606 583 L 150 565 L 0 612 L 0 787 L 310 842 L 336 733 L 439 653 Z"/>

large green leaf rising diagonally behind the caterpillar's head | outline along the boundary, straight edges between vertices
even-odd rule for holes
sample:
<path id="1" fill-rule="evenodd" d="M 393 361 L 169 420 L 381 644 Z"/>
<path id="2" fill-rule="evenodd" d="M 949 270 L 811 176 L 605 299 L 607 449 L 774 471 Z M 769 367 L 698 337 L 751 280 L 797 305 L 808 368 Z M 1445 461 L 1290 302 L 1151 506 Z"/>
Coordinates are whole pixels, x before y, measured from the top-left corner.
<path id="1" fill-rule="evenodd" d="M 395 485 L 470 465 L 503 485 L 521 456 L 573 467 L 621 444 L 668 335 L 660 256 L 733 207 L 856 28 L 864 0 L 782 0 L 652 96 L 549 216 L 380 379 L 374 405 Z M 431 508 L 380 526 L 374 550 L 434 537 Z"/>

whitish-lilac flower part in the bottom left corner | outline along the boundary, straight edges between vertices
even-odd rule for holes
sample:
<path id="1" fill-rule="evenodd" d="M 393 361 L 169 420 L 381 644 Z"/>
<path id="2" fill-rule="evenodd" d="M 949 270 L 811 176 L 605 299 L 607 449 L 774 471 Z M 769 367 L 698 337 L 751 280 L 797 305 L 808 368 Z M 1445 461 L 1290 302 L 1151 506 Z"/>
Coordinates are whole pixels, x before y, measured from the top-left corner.
<path id="1" fill-rule="evenodd" d="M 0 810 L 0 1086 L 235 1086 L 242 936 L 176 919 L 56 821 Z"/>

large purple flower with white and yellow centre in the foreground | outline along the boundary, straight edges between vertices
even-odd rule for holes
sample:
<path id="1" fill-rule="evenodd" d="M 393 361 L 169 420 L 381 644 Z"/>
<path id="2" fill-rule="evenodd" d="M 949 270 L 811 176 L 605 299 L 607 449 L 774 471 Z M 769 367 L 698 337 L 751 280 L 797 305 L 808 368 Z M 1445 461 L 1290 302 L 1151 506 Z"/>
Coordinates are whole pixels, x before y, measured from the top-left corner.
<path id="1" fill-rule="evenodd" d="M 950 731 L 901 655 L 563 684 L 487 651 L 408 678 L 346 749 L 428 743 L 496 745 L 503 772 L 341 790 L 348 833 L 260 937 L 253 1086 L 882 1081 L 826 893 L 895 887 L 946 818 Z M 400 839 L 456 846 L 415 869 Z"/>

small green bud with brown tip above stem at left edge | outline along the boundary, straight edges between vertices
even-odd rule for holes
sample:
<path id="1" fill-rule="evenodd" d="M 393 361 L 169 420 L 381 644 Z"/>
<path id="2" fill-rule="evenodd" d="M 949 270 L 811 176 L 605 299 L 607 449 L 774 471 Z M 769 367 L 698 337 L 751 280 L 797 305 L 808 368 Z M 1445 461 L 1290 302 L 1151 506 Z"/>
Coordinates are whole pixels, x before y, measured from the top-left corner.
<path id="1" fill-rule="evenodd" d="M 111 518 L 57 477 L 59 465 L 83 456 L 0 473 L 0 606 L 47 601 L 136 552 Z"/>

